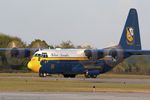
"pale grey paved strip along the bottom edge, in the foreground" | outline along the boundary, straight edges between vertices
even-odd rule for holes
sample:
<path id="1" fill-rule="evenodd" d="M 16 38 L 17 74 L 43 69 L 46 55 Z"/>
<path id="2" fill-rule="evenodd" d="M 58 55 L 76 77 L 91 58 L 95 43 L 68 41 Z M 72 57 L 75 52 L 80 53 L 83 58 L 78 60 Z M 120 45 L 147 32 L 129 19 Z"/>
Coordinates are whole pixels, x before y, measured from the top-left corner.
<path id="1" fill-rule="evenodd" d="M 149 100 L 148 93 L 0 93 L 0 100 Z"/>

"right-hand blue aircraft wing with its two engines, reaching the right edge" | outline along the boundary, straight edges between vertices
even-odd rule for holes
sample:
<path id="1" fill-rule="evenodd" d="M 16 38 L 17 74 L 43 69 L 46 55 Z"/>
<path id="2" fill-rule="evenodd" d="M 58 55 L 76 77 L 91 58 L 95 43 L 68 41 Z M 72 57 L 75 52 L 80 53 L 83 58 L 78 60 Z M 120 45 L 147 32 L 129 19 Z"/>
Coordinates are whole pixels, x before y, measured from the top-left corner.
<path id="1" fill-rule="evenodd" d="M 85 50 L 85 56 L 91 60 L 98 60 L 105 57 L 124 57 L 128 58 L 132 55 L 150 55 L 150 50 L 130 50 L 130 49 L 97 49 L 97 50 Z"/>

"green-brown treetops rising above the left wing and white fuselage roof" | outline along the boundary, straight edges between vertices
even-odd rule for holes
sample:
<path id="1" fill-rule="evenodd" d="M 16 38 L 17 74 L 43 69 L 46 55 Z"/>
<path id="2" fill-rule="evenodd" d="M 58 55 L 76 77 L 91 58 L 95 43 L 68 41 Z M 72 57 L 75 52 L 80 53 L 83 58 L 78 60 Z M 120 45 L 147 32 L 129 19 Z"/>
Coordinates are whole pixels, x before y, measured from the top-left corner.
<path id="1" fill-rule="evenodd" d="M 15 46 L 14 46 L 15 45 Z M 86 48 L 91 49 L 90 45 L 77 45 L 75 46 L 70 40 L 62 41 L 59 45 L 50 45 L 45 40 L 35 39 L 30 44 L 26 44 L 18 37 L 9 36 L 0 33 L 0 48 Z"/>

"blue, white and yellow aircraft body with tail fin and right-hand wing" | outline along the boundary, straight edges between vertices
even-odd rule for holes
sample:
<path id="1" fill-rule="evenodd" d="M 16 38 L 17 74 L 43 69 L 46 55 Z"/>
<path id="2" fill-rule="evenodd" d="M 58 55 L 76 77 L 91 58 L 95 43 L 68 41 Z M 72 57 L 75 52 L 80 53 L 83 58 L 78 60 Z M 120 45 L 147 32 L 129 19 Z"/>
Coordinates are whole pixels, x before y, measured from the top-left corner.
<path id="1" fill-rule="evenodd" d="M 117 46 L 104 49 L 43 49 L 35 52 L 28 68 L 38 72 L 40 77 L 47 74 L 62 74 L 64 77 L 85 74 L 87 78 L 96 78 L 133 55 L 150 55 L 149 50 L 141 50 L 138 15 L 134 8 L 129 11 Z"/>

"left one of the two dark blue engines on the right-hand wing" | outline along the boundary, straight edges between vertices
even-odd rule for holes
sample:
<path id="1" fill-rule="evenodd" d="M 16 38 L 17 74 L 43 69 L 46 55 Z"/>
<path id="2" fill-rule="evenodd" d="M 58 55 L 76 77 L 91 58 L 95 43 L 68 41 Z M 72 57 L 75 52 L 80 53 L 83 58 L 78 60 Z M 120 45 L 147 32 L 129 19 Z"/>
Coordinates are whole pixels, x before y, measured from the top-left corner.
<path id="1" fill-rule="evenodd" d="M 84 53 L 85 53 L 85 56 L 87 56 L 87 58 L 89 60 L 98 60 L 98 59 L 104 57 L 104 52 L 103 51 L 85 50 Z"/>

